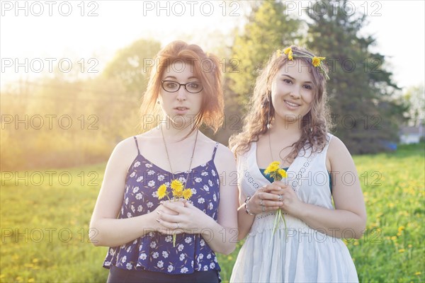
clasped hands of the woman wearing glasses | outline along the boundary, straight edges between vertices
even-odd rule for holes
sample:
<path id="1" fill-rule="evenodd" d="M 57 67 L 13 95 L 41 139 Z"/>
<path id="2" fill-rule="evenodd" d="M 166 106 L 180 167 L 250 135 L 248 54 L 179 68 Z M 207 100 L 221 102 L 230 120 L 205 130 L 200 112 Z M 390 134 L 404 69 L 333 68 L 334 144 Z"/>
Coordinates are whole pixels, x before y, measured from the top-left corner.
<path id="1" fill-rule="evenodd" d="M 197 207 L 183 200 L 178 202 L 166 201 L 162 203 L 164 209 L 159 210 L 157 221 L 165 234 L 202 233 L 208 227 L 210 216 Z"/>

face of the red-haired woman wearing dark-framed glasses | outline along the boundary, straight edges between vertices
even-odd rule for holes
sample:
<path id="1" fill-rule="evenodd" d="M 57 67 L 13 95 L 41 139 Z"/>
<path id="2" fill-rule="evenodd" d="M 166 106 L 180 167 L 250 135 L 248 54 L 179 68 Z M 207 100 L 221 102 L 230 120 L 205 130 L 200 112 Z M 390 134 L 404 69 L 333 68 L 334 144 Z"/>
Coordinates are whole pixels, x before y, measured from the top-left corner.
<path id="1" fill-rule="evenodd" d="M 162 75 L 162 86 L 159 91 L 159 103 L 164 114 L 174 123 L 183 128 L 189 126 L 198 115 L 202 100 L 203 91 L 193 93 L 202 89 L 200 79 L 193 73 L 193 65 L 185 62 L 175 62 L 166 67 Z M 179 83 L 186 84 L 180 86 Z M 168 89 L 166 91 L 164 88 Z M 174 91 L 179 88 L 179 91 Z"/>

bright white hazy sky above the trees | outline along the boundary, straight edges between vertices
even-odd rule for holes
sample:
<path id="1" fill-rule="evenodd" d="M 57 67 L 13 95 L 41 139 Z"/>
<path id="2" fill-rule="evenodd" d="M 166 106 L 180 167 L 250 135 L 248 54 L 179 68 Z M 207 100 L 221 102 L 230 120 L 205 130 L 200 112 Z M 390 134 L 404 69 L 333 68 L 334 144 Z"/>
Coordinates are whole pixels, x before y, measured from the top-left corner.
<path id="1" fill-rule="evenodd" d="M 285 1 L 293 16 L 314 1 Z M 348 1 L 347 13 L 368 16 L 364 35 L 377 40 L 401 87 L 424 83 L 425 1 Z M 96 76 L 113 54 L 142 37 L 163 45 L 192 38 L 208 50 L 213 33 L 241 28 L 249 1 L 0 1 L 1 88 L 52 69 Z M 72 64 L 74 62 L 74 64 Z M 71 63 L 71 64 L 69 64 Z"/>

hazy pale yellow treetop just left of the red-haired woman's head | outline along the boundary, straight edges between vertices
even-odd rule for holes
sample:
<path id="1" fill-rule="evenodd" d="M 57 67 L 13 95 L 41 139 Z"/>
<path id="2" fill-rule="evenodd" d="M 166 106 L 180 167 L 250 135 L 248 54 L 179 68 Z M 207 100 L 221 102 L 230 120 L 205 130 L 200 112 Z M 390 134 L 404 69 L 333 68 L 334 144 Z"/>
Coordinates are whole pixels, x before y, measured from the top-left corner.
<path id="1" fill-rule="evenodd" d="M 161 43 L 140 39 L 119 50 L 103 71 L 108 79 L 123 83 L 125 90 L 140 97 L 146 91 L 149 66 L 161 49 Z"/>

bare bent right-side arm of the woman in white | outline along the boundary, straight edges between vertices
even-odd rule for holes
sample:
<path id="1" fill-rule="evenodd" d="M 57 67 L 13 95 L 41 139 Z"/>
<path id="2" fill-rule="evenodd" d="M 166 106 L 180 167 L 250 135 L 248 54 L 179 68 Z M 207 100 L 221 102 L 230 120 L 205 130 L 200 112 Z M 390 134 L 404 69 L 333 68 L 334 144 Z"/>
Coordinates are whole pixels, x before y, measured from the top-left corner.
<path id="1" fill-rule="evenodd" d="M 282 208 L 312 228 L 330 236 L 361 238 L 365 230 L 366 211 L 353 158 L 343 142 L 336 137 L 330 141 L 327 158 L 331 166 L 331 175 L 336 176 L 332 179 L 335 209 L 301 202 L 290 187 L 276 182 L 273 184 L 284 187 Z M 346 174 L 355 176 L 350 184 L 341 178 Z"/>

